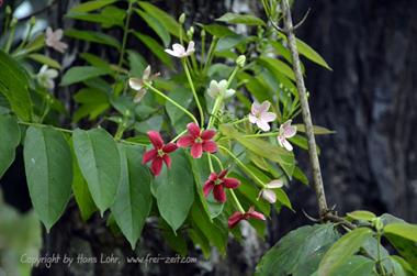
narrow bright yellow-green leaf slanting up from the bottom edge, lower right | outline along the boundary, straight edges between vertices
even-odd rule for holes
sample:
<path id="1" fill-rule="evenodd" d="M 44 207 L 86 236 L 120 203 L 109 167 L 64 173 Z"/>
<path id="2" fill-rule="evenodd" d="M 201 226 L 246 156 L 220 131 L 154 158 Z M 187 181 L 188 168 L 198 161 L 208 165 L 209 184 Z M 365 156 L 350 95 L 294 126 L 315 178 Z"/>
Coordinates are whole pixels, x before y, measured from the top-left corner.
<path id="1" fill-rule="evenodd" d="M 336 275 L 337 271 L 372 236 L 369 228 L 357 228 L 343 235 L 325 254 L 318 267 L 318 276 Z"/>

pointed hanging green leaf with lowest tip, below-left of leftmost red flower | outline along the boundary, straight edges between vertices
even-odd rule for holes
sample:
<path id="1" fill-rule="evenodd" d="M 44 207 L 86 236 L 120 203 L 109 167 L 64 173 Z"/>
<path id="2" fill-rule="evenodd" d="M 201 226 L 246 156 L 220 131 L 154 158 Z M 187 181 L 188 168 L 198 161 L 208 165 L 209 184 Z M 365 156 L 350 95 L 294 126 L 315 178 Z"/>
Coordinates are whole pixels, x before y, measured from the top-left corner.
<path id="1" fill-rule="evenodd" d="M 142 165 L 142 147 L 119 144 L 119 152 L 122 176 L 111 210 L 119 228 L 134 250 L 153 206 L 149 188 L 151 176 L 148 168 Z"/>

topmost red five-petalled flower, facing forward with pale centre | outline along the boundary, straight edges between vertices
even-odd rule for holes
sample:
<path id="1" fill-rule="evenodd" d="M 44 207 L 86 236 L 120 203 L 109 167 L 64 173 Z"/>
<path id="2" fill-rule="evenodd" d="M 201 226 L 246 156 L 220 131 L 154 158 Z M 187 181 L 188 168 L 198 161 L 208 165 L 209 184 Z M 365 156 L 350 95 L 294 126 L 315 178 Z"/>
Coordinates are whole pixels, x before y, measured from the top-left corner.
<path id="1" fill-rule="evenodd" d="M 196 123 L 187 124 L 189 134 L 180 137 L 177 142 L 180 147 L 190 147 L 191 155 L 194 158 L 200 158 L 203 152 L 217 152 L 217 145 L 212 139 L 216 135 L 214 130 L 201 131 Z"/>

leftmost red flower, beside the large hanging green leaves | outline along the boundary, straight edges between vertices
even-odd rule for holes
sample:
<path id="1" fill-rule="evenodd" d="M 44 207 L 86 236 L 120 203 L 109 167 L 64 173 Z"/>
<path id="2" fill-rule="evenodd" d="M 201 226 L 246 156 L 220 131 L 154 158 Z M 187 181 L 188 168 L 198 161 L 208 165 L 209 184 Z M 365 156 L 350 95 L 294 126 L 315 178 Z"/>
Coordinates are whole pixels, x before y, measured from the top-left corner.
<path id="1" fill-rule="evenodd" d="M 171 158 L 168 154 L 174 152 L 178 147 L 174 143 L 165 144 L 162 137 L 157 131 L 149 131 L 148 136 L 154 145 L 154 148 L 144 154 L 142 164 L 146 164 L 151 161 L 153 164 L 150 165 L 150 172 L 153 172 L 155 176 L 158 176 L 162 169 L 162 162 L 165 162 L 168 168 L 171 167 Z"/>

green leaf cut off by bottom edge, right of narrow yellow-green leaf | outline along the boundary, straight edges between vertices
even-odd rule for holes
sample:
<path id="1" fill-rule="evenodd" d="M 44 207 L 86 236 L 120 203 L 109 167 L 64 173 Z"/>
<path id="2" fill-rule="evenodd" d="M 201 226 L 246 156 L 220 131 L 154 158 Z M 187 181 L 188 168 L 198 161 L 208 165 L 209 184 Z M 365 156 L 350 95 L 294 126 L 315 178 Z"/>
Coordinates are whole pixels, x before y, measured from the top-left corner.
<path id="1" fill-rule="evenodd" d="M 374 261 L 364 256 L 351 256 L 343 264 L 341 264 L 335 276 L 376 276 L 373 271 Z"/>

